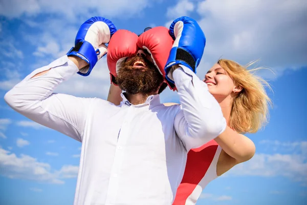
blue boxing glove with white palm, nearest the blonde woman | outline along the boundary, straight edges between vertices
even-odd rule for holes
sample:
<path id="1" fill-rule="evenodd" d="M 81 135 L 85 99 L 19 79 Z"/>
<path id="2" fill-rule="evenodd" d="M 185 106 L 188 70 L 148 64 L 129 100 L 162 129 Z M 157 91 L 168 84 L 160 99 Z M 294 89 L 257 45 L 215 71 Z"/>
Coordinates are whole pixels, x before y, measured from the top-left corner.
<path id="1" fill-rule="evenodd" d="M 174 43 L 164 71 L 166 80 L 174 84 L 172 66 L 180 64 L 196 73 L 204 53 L 206 37 L 199 24 L 187 16 L 175 19 L 169 27 L 169 34 Z"/>

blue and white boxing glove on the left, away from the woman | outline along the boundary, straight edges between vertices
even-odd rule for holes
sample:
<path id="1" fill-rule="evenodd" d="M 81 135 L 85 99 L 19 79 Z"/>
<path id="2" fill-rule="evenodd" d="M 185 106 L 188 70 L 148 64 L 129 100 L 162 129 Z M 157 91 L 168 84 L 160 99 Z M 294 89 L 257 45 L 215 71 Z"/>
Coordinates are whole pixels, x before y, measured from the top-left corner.
<path id="1" fill-rule="evenodd" d="M 77 33 L 75 47 L 67 55 L 75 55 L 85 60 L 89 66 L 79 70 L 78 74 L 90 75 L 97 61 L 106 54 L 107 44 L 116 32 L 116 27 L 106 18 L 95 16 L 84 22 Z"/>

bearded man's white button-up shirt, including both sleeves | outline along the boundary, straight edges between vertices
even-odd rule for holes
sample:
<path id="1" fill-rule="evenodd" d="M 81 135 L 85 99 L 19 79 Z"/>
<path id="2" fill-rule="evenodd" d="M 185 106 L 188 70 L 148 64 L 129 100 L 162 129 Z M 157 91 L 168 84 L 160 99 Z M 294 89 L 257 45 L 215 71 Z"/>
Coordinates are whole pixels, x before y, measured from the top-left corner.
<path id="1" fill-rule="evenodd" d="M 99 98 L 53 93 L 77 72 L 64 55 L 33 71 L 5 96 L 17 112 L 82 142 L 74 204 L 170 205 L 187 151 L 226 128 L 207 85 L 181 66 L 173 72 L 181 105 L 166 107 L 159 95 L 131 105 L 122 94 L 115 106 Z"/>

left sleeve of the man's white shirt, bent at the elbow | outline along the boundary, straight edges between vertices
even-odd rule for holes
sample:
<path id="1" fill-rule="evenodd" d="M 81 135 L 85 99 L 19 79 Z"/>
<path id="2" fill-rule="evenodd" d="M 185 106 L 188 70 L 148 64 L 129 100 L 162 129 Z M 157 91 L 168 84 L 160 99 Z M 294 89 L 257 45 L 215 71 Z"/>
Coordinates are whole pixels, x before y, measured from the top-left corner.
<path id="1" fill-rule="evenodd" d="M 46 70 L 49 71 L 33 77 Z M 53 93 L 62 81 L 77 72 L 77 66 L 64 55 L 48 66 L 34 70 L 6 93 L 5 101 L 29 119 L 82 141 L 86 113 L 94 98 Z"/>

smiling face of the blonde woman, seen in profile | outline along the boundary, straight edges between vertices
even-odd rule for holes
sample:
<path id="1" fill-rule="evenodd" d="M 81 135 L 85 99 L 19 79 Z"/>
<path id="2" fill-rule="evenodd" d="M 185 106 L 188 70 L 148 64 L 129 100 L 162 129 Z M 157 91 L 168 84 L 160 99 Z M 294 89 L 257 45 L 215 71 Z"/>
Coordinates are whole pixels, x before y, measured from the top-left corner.
<path id="1" fill-rule="evenodd" d="M 218 64 L 215 64 L 205 75 L 204 82 L 209 92 L 216 98 L 227 97 L 236 92 L 234 81 L 228 73 Z"/>

